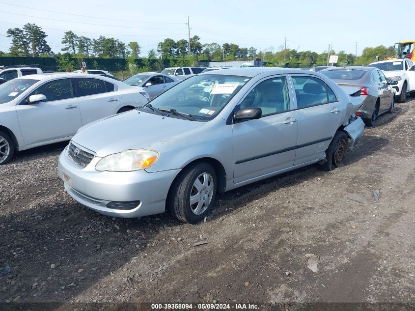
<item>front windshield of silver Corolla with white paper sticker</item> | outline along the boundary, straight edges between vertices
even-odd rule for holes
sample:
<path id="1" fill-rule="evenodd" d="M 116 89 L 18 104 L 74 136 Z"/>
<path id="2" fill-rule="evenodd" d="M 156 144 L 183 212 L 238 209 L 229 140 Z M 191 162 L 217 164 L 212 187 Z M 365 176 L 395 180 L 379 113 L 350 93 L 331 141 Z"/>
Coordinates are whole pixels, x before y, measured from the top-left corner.
<path id="1" fill-rule="evenodd" d="M 154 108 L 190 114 L 198 120 L 215 117 L 250 78 L 227 75 L 196 75 L 168 89 L 150 104 Z"/>

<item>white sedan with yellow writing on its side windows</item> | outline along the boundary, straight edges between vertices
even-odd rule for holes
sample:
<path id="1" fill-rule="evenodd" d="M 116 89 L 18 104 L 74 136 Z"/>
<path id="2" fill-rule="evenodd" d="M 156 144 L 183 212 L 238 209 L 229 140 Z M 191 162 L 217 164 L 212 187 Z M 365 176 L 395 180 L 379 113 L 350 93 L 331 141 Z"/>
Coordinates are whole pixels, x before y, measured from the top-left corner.
<path id="1" fill-rule="evenodd" d="M 36 74 L 0 85 L 0 165 L 15 150 L 67 141 L 83 125 L 146 104 L 143 88 L 78 73 Z"/>

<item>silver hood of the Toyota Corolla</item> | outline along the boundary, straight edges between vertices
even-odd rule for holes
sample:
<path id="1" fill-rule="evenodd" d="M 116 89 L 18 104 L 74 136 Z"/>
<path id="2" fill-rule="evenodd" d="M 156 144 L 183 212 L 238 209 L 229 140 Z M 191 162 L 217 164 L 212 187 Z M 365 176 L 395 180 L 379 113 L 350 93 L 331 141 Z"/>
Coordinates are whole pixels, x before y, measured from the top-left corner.
<path id="1" fill-rule="evenodd" d="M 160 143 L 178 139 L 202 124 L 204 122 L 132 110 L 86 127 L 72 141 L 94 151 L 97 157 L 105 157 L 128 149 L 155 149 L 155 145 L 159 149 Z"/>

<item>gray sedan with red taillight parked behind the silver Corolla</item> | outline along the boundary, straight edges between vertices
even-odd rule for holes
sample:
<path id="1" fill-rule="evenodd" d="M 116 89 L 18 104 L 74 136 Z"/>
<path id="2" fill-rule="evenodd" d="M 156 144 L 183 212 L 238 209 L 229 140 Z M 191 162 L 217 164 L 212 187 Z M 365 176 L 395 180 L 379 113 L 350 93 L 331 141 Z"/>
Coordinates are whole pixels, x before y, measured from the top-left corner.
<path id="1" fill-rule="evenodd" d="M 392 113 L 395 105 L 395 89 L 383 72 L 372 67 L 332 67 L 320 71 L 340 86 L 359 87 L 364 97 L 363 105 L 356 112 L 366 126 L 374 126 L 382 113 Z"/>

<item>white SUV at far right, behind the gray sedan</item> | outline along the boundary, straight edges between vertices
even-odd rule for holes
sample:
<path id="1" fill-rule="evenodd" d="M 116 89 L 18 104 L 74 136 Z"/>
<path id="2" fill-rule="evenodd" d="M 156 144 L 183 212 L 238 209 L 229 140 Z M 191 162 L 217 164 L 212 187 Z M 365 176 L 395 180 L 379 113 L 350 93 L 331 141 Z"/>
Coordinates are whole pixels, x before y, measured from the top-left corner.
<path id="1" fill-rule="evenodd" d="M 376 67 L 383 71 L 385 77 L 397 81 L 392 87 L 396 90 L 396 100 L 400 103 L 406 101 L 406 93 L 415 95 L 415 64 L 409 59 L 389 59 L 373 62 L 368 67 Z"/>

